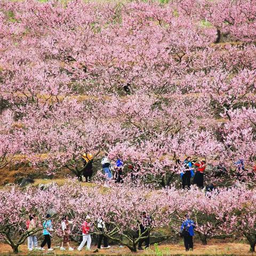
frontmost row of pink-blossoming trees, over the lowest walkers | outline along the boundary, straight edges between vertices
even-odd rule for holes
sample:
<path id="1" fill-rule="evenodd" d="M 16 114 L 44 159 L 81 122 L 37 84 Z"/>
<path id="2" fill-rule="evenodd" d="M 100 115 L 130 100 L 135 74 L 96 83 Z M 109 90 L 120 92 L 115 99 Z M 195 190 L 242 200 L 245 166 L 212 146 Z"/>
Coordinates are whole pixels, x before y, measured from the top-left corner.
<path id="1" fill-rule="evenodd" d="M 142 211 L 153 218 L 150 226 L 152 237 L 158 237 L 159 229 L 167 227 L 165 239 L 177 236 L 182 222 L 181 216 L 191 213 L 196 219 L 197 233 L 202 243 L 220 235 L 244 235 L 255 250 L 255 190 L 237 187 L 221 189 L 218 193 L 208 193 L 191 189 L 189 191 L 174 188 L 151 190 L 146 187 L 113 186 L 88 188 L 70 180 L 61 187 L 51 186 L 47 190 L 38 188 L 21 191 L 17 187 L 1 190 L 1 238 L 18 252 L 20 244 L 38 231 L 26 231 L 26 219 L 29 213 L 35 213 L 44 219 L 46 211 L 52 213 L 54 232 L 58 235 L 59 220 L 63 214 L 69 214 L 73 220 L 73 234 L 79 235 L 83 219 L 90 214 L 97 223 L 102 218 L 108 223 L 105 235 L 133 252 L 143 234 L 135 237 L 137 221 Z M 97 232 L 97 226 L 94 230 Z M 22 235 L 21 235 L 22 234 Z M 121 237 L 125 239 L 121 239 Z"/>

